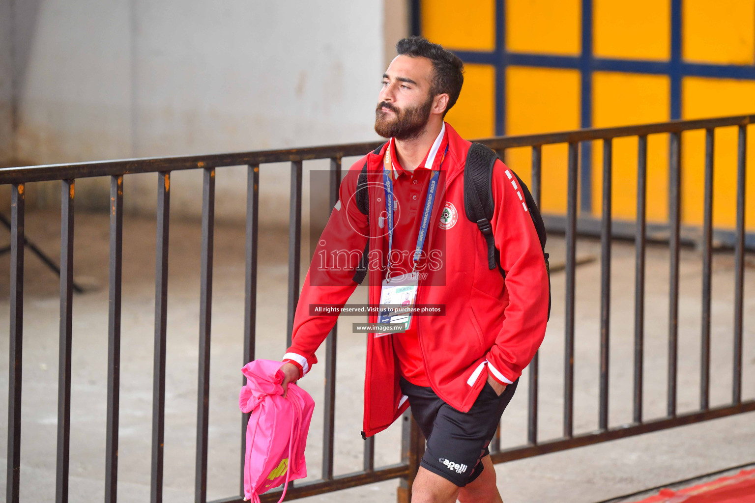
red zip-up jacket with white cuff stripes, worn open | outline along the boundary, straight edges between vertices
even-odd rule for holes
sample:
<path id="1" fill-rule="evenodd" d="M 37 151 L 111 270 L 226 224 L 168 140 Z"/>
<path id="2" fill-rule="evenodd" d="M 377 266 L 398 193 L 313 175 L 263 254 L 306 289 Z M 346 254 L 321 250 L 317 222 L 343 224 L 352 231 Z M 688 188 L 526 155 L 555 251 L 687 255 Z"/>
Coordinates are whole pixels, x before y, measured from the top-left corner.
<path id="1" fill-rule="evenodd" d="M 448 154 L 442 164 L 438 192 L 421 261 L 424 278 L 416 305 L 445 305 L 444 316 L 418 315 L 418 332 L 427 379 L 445 403 L 467 412 L 485 385 L 488 372 L 513 382 L 543 341 L 548 309 L 548 278 L 535 225 L 516 177 L 501 161 L 492 174 L 495 210 L 491 219 L 501 271 L 488 269 L 488 248 L 476 223 L 464 213 L 464 163 L 471 143 L 448 124 Z M 383 161 L 369 153 L 356 161 L 341 182 L 339 200 L 316 247 L 304 278 L 294 315 L 291 347 L 284 359 L 306 374 L 316 363 L 315 351 L 337 321 L 333 315 L 311 315 L 311 304 L 344 305 L 356 288 L 356 260 L 369 239 L 368 303 L 380 303 L 388 238 L 379 225 L 384 216 Z M 354 199 L 357 178 L 367 162 L 369 219 Z M 440 221 L 442 211 L 448 218 Z M 450 222 L 454 222 L 449 225 Z M 441 225 L 442 224 L 442 225 Z M 368 238 L 369 236 L 369 238 Z M 323 267 L 323 257 L 338 253 L 342 267 Z M 426 257 L 427 258 L 427 257 Z M 351 259 L 351 260 L 348 260 Z M 348 262 L 348 263 L 347 263 Z M 441 264 L 441 267 L 433 265 Z M 377 322 L 377 314 L 368 316 Z M 368 333 L 365 371 L 364 434 L 387 428 L 408 407 L 399 388 L 399 364 L 393 336 Z"/>

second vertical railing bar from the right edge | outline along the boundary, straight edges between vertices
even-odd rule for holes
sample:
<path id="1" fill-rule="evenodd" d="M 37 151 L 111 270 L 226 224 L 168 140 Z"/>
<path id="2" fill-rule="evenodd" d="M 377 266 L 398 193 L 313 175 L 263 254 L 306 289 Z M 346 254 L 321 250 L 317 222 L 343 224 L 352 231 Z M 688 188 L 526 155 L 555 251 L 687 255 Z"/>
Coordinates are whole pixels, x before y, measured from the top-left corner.
<path id="1" fill-rule="evenodd" d="M 710 406 L 710 281 L 713 241 L 713 148 L 715 130 L 705 130 L 705 195 L 703 217 L 703 305 L 700 348 L 700 408 Z"/>

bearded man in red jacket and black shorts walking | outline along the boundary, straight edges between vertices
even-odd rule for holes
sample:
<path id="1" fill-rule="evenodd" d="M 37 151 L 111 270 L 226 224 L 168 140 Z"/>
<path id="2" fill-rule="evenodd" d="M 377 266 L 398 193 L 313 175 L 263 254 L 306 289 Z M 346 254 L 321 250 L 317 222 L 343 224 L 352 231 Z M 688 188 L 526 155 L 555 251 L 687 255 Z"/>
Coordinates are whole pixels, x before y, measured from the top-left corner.
<path id="1" fill-rule="evenodd" d="M 375 110 L 375 131 L 388 141 L 341 182 L 304 279 L 281 367 L 284 389 L 316 363 L 337 320 L 313 315 L 310 305 L 343 306 L 361 282 L 355 264 L 340 267 L 327 257 L 368 253 L 369 305 L 381 312 L 368 317 L 374 330 L 367 334 L 362 436 L 411 406 L 427 440 L 411 501 L 502 501 L 488 443 L 543 340 L 543 252 L 516 177 L 497 160 L 490 223 L 500 270 L 488 268 L 485 238 L 459 215 L 471 143 L 443 120 L 461 93 L 464 64 L 421 37 L 402 39 L 396 52 Z M 388 299 L 445 312 L 392 315 L 382 310 Z"/>

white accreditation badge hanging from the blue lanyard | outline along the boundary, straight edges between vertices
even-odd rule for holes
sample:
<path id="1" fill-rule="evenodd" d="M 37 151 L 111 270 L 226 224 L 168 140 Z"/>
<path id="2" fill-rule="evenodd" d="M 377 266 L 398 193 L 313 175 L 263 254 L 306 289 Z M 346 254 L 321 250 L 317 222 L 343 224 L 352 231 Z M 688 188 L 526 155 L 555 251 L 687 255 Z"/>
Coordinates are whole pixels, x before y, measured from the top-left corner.
<path id="1" fill-rule="evenodd" d="M 378 332 L 375 336 L 387 336 L 408 330 L 414 300 L 417 299 L 418 284 L 419 275 L 416 271 L 383 280 L 377 323 L 385 327 L 383 332 Z"/>

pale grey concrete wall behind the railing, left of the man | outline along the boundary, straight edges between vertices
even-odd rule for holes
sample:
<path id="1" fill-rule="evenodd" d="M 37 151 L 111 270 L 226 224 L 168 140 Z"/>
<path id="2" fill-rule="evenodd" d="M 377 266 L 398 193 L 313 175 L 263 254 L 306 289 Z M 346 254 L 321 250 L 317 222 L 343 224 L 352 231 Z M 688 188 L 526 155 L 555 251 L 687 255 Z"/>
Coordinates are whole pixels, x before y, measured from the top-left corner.
<path id="1" fill-rule="evenodd" d="M 407 12 L 404 0 L 0 2 L 15 26 L 13 157 L 29 164 L 377 140 L 384 28 L 406 26 L 384 16 Z M 219 219 L 244 215 L 245 176 L 218 170 Z M 174 214 L 199 214 L 201 179 L 174 173 Z M 288 181 L 288 165 L 260 169 L 270 222 L 288 222 Z M 58 184 L 30 185 L 28 204 L 60 201 Z M 80 179 L 78 207 L 105 208 L 107 185 Z M 128 176 L 128 210 L 153 211 L 155 188 L 154 174 Z"/>

